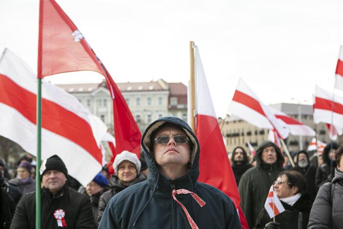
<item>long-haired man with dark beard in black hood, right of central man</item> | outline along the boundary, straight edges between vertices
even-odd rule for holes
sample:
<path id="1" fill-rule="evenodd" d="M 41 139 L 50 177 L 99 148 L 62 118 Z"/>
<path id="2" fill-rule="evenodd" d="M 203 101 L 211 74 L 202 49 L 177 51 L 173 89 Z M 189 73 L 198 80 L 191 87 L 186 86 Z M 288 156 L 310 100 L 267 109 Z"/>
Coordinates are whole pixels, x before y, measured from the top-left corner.
<path id="1" fill-rule="evenodd" d="M 234 172 L 236 184 L 238 186 L 239 180 L 243 173 L 245 173 L 245 171 L 247 171 L 253 166 L 248 163 L 247 153 L 240 146 L 237 146 L 232 151 L 231 161 L 233 163 L 232 170 Z"/>

